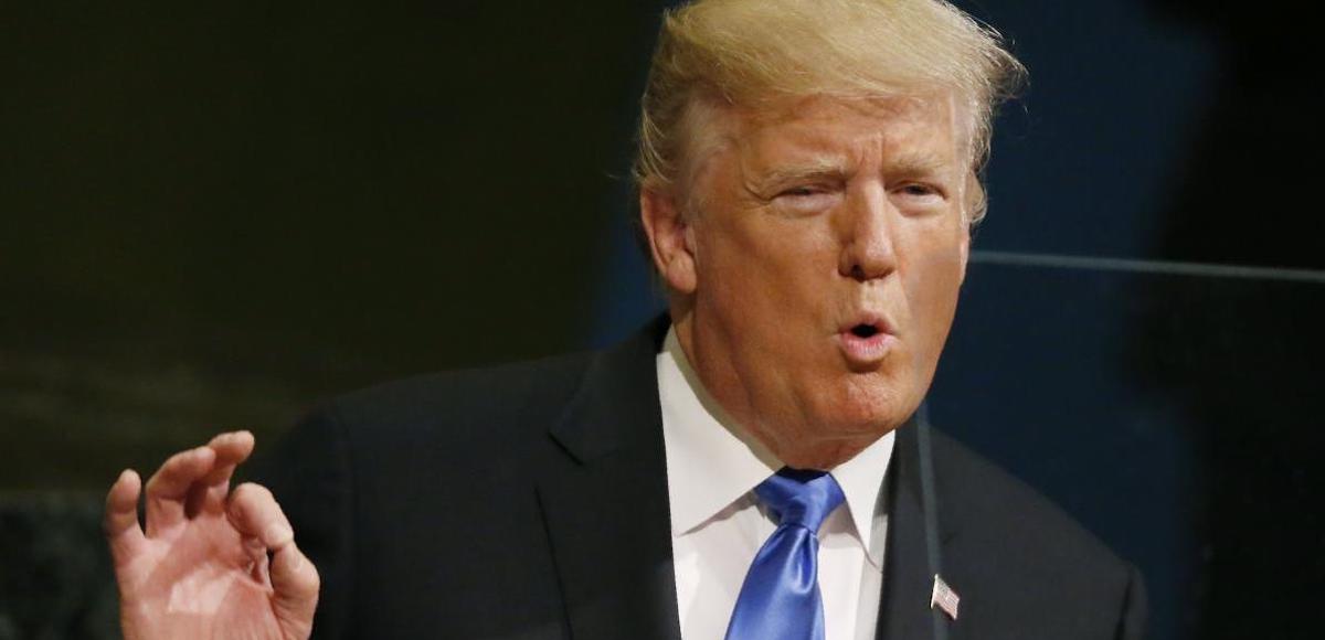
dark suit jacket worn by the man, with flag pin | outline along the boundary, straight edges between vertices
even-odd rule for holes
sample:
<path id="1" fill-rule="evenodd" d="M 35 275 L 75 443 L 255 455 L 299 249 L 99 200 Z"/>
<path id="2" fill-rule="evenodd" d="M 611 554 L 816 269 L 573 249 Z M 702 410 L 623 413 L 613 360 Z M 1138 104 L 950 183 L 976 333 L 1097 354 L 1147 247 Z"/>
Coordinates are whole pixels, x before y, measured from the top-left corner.
<path id="1" fill-rule="evenodd" d="M 314 637 L 678 639 L 655 355 L 615 348 L 341 398 L 266 460 L 323 578 Z M 933 635 L 914 428 L 898 431 L 878 636 Z M 935 433 L 957 639 L 1140 637 L 1137 571 Z M 831 621 L 829 621 L 831 624 Z"/>

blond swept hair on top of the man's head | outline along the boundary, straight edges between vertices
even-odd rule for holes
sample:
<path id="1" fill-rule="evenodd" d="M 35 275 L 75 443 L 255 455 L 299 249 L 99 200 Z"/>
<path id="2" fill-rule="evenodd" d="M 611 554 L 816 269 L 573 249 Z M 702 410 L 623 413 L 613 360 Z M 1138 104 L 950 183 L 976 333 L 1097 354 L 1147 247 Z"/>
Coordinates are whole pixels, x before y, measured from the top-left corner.
<path id="1" fill-rule="evenodd" d="M 664 15 L 641 99 L 635 180 L 640 188 L 684 182 L 690 121 L 702 118 L 705 101 L 757 107 L 935 90 L 966 107 L 979 175 L 994 110 L 1024 74 L 995 30 L 945 0 L 697 0 Z M 973 208 L 977 221 L 982 195 Z"/>

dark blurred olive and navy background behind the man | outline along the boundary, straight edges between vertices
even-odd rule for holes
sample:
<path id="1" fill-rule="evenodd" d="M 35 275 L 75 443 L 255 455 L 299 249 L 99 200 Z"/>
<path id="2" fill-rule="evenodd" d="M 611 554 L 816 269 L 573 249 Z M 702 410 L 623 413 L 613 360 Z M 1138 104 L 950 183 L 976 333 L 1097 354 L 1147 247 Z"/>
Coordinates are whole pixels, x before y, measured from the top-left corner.
<path id="1" fill-rule="evenodd" d="M 125 466 L 657 313 L 625 178 L 668 4 L 0 8 L 0 640 L 117 637 Z M 957 4 L 1031 86 L 934 423 L 1138 563 L 1150 637 L 1318 637 L 1318 16 Z"/>

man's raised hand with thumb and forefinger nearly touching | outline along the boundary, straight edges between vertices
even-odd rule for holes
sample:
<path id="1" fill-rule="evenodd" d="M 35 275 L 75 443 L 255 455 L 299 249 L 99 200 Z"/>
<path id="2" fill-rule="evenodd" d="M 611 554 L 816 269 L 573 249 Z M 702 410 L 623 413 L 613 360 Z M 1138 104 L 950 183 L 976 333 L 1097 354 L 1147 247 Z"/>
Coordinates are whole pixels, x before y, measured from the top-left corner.
<path id="1" fill-rule="evenodd" d="M 125 470 L 110 488 L 105 526 L 126 640 L 309 637 L 317 568 L 272 492 L 229 489 L 252 452 L 241 431 L 167 460 L 147 481 L 146 534 L 138 474 Z"/>

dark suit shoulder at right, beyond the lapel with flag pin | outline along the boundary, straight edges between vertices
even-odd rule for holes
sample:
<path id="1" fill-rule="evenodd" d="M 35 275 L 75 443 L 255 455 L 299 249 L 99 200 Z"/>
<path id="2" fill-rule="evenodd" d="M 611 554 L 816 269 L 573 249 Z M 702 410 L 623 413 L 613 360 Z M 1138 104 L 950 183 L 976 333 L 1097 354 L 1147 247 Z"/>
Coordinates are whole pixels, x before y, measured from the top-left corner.
<path id="1" fill-rule="evenodd" d="M 1132 628 L 1143 624 L 1145 595 L 1134 566 L 965 445 L 935 433 L 933 451 L 939 518 L 951 538 L 943 566 L 979 592 L 969 599 L 973 617 L 1036 620 L 1044 637 L 1140 632 Z"/>

